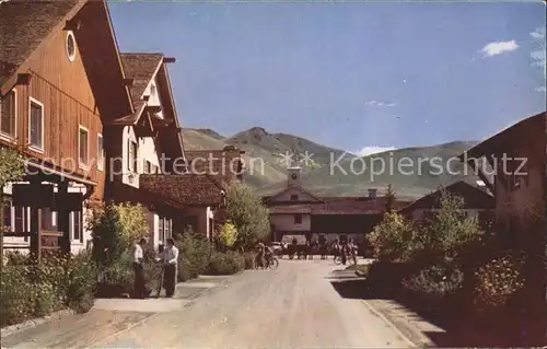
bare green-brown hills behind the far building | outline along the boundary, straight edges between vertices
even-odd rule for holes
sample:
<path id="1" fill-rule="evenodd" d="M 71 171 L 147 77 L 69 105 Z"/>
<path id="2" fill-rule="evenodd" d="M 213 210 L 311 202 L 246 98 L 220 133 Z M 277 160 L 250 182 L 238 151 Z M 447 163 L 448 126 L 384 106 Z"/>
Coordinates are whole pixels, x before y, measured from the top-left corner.
<path id="1" fill-rule="evenodd" d="M 261 127 L 231 137 L 210 129 L 183 129 L 183 139 L 187 150 L 222 149 L 228 144 L 244 150 L 248 172 L 245 181 L 263 195 L 284 187 L 287 164 L 282 154 L 291 153 L 299 155 L 294 158 L 302 166 L 303 186 L 318 195 L 360 195 L 391 183 L 399 197 L 415 198 L 441 185 L 476 179 L 454 174 L 464 170 L 455 158 L 475 146 L 475 141 L 404 148 L 361 158 L 301 137 L 269 133 Z M 306 152 L 312 161 L 306 161 Z M 447 173 L 449 166 L 453 174 Z"/>

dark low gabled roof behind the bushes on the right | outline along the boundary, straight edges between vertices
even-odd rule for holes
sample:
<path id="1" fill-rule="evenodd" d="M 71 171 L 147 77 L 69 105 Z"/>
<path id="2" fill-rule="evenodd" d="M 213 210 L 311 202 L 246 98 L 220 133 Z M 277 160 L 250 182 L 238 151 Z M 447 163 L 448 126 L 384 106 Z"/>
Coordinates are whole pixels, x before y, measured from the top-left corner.
<path id="1" fill-rule="evenodd" d="M 464 199 L 464 209 L 490 210 L 496 207 L 496 200 L 492 195 L 468 184 L 465 181 L 458 181 L 419 198 L 410 205 L 401 208 L 399 212 L 408 213 L 417 209 L 428 210 L 439 208 L 439 200 L 442 197 L 443 190 L 462 197 Z"/>

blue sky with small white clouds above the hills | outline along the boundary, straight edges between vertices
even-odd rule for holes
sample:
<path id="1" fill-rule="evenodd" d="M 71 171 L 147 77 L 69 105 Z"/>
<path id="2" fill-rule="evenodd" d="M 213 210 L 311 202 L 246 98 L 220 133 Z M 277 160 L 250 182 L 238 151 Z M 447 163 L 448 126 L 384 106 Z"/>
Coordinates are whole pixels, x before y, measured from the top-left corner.
<path id="1" fill-rule="evenodd" d="M 545 27 L 539 2 L 109 9 L 123 51 L 177 58 L 168 68 L 184 127 L 260 126 L 358 151 L 480 140 L 546 109 L 534 66 L 545 54 L 531 35 Z"/>

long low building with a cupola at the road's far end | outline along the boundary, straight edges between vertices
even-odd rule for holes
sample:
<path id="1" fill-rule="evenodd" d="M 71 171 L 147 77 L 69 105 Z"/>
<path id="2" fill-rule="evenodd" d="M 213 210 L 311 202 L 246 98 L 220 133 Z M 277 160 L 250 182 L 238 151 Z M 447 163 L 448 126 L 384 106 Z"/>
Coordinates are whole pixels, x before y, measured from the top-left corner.
<path id="1" fill-rule="evenodd" d="M 387 200 L 376 196 L 376 189 L 362 197 L 319 197 L 302 188 L 300 167 L 290 167 L 288 173 L 287 188 L 264 198 L 270 211 L 272 241 L 294 237 L 304 244 L 339 239 L 362 244 L 364 234 L 381 222 Z M 406 203 L 396 201 L 395 209 Z"/>

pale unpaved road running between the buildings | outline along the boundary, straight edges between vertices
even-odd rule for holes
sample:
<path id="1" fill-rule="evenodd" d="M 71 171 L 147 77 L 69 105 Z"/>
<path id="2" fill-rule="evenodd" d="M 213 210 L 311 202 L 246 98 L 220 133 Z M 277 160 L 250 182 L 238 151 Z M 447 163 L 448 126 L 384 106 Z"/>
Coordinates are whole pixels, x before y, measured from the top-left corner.
<path id="1" fill-rule="evenodd" d="M 28 338 L 13 347 L 93 348 L 407 348 L 361 300 L 338 293 L 331 261 L 281 260 L 277 270 L 245 271 L 173 312 L 131 317 L 112 330 L 81 330 L 88 342 L 44 342 Z M 344 281 L 341 281 L 344 282 Z M 146 301 L 143 301 L 146 302 Z M 136 310 L 136 314 L 138 310 Z M 92 312 L 93 313 L 93 312 Z M 101 313 L 103 318 L 113 313 Z M 106 314 L 106 315 L 105 315 Z M 110 315 L 108 315 L 110 314 Z M 121 313 L 116 314 L 123 315 Z M 96 316 L 93 314 L 84 316 Z M 95 323 L 96 324 L 96 323 Z M 113 324 L 114 325 L 114 324 Z M 129 328 L 128 328 L 129 327 Z M 125 328 L 125 329 L 124 329 Z M 67 328 L 68 330 L 68 328 Z M 73 330 L 72 330 L 73 331 Z M 21 337 L 21 335 L 18 335 Z M 9 338 L 9 337 L 8 337 Z M 9 340 L 8 340 L 9 341 Z M 54 345 L 54 346 L 51 346 Z M 65 346 L 67 345 L 67 346 Z M 8 346 L 8 347 L 12 347 Z M 33 347 L 34 347 L 33 346 Z"/>

